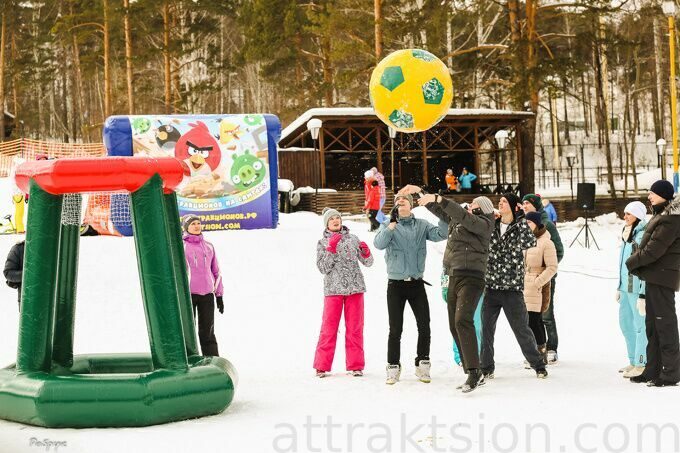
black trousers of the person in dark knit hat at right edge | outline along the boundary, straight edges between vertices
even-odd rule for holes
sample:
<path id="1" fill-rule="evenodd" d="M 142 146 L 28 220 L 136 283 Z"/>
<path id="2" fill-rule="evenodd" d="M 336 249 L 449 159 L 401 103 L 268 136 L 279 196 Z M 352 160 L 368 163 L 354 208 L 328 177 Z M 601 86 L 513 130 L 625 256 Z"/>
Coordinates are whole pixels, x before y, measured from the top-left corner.
<path id="1" fill-rule="evenodd" d="M 675 291 L 647 283 L 645 288 L 647 316 L 647 365 L 643 374 L 670 382 L 680 382 L 680 346 L 678 317 L 675 313 Z"/>

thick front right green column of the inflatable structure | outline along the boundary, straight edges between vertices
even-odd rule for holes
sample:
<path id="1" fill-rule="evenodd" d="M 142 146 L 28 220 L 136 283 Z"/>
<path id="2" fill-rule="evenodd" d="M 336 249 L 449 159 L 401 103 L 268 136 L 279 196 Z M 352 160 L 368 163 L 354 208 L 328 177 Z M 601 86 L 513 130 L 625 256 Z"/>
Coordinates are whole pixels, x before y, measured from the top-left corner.
<path id="1" fill-rule="evenodd" d="M 161 177 L 152 176 L 130 200 L 154 369 L 188 369 Z"/>

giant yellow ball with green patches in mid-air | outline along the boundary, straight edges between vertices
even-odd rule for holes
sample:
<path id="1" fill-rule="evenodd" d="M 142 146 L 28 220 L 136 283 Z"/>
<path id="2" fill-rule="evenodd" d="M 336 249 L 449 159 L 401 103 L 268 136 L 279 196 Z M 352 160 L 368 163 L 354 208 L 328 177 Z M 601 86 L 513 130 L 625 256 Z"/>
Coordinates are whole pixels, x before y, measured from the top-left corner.
<path id="1" fill-rule="evenodd" d="M 378 63 L 369 84 L 378 118 L 400 132 L 421 132 L 446 116 L 453 86 L 449 70 L 430 52 L 405 49 Z"/>

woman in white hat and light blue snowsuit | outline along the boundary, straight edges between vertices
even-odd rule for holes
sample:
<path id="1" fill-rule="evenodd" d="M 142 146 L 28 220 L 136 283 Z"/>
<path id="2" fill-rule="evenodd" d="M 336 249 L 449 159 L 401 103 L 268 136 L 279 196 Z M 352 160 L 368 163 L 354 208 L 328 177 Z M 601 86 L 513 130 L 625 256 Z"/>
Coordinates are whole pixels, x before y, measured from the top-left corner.
<path id="1" fill-rule="evenodd" d="M 647 363 L 645 307 L 640 302 L 645 297 L 645 282 L 628 272 L 626 260 L 638 249 L 645 234 L 647 209 L 641 202 L 633 201 L 628 203 L 623 212 L 626 225 L 621 234 L 616 300 L 619 303 L 619 325 L 628 350 L 628 365 L 619 372 L 623 373 L 624 378 L 631 378 L 642 374 Z"/>

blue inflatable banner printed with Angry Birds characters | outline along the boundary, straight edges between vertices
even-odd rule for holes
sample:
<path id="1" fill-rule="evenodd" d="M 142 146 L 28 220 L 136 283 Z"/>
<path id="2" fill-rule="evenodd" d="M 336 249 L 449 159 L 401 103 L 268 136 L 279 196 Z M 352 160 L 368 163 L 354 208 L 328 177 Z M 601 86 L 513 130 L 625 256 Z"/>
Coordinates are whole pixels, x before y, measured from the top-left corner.
<path id="1" fill-rule="evenodd" d="M 110 156 L 183 162 L 179 213 L 200 216 L 208 231 L 276 228 L 280 136 L 274 115 L 130 115 L 104 124 Z"/>

